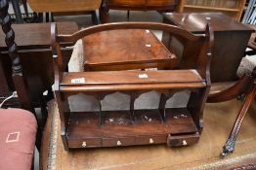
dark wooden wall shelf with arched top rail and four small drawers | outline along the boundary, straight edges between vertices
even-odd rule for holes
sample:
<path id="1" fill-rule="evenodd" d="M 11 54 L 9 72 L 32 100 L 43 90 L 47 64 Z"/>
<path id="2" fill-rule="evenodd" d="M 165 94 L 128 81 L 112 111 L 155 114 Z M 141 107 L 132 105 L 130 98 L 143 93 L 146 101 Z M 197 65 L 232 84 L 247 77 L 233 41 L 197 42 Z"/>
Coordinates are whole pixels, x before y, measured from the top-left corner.
<path id="1" fill-rule="evenodd" d="M 163 30 L 179 36 L 185 42 L 201 42 L 197 67 L 184 70 L 64 72 L 60 43 L 76 42 L 84 36 L 118 29 Z M 186 146 L 197 142 L 203 125 L 204 102 L 211 85 L 208 69 L 212 41 L 213 35 L 209 26 L 207 26 L 205 34 L 193 35 L 169 24 L 121 22 L 85 28 L 72 35 L 58 35 L 56 25 L 53 24 L 55 95 L 60 111 L 64 149 L 162 143 L 167 143 L 168 146 Z M 169 97 L 177 91 L 185 89 L 191 91 L 187 107 L 165 108 Z M 161 93 L 159 108 L 135 110 L 135 99 L 150 90 Z M 107 94 L 116 91 L 131 96 L 130 110 L 102 111 L 101 100 Z M 94 96 L 99 101 L 100 110 L 97 112 L 70 112 L 68 103 L 64 101 L 68 96 L 80 92 Z"/>

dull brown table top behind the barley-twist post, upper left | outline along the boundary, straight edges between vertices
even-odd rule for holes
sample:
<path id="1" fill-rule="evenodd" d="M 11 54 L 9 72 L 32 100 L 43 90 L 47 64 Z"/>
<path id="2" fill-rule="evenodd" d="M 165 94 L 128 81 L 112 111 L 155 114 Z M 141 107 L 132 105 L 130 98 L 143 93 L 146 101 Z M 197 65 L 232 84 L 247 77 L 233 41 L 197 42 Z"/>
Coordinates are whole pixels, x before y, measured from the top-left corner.
<path id="1" fill-rule="evenodd" d="M 24 49 L 44 49 L 51 46 L 51 26 L 50 23 L 25 23 L 13 24 L 15 31 L 15 42 L 19 50 Z M 59 34 L 72 34 L 78 31 L 75 22 L 58 22 Z M 0 50 L 6 51 L 5 35 L 0 30 Z"/>

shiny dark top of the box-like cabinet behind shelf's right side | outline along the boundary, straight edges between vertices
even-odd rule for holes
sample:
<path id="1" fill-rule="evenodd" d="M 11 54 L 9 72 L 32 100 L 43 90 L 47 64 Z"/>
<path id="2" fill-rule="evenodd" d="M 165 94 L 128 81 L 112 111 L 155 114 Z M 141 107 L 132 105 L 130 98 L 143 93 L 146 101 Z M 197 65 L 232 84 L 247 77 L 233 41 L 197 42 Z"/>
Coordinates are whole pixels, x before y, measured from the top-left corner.
<path id="1" fill-rule="evenodd" d="M 180 25 L 192 32 L 202 32 L 207 23 L 206 17 L 211 18 L 211 25 L 214 31 L 253 31 L 252 28 L 228 17 L 222 13 L 184 13 L 184 14 L 163 14 L 164 18 Z"/>

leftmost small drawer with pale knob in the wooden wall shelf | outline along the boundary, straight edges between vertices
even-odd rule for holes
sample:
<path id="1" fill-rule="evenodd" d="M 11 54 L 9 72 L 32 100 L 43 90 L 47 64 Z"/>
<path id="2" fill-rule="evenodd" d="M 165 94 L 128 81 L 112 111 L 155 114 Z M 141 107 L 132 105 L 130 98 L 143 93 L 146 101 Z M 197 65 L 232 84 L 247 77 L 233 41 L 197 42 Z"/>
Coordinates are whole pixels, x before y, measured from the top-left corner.
<path id="1" fill-rule="evenodd" d="M 93 148 L 102 147 L 101 138 L 68 139 L 69 148 Z"/>

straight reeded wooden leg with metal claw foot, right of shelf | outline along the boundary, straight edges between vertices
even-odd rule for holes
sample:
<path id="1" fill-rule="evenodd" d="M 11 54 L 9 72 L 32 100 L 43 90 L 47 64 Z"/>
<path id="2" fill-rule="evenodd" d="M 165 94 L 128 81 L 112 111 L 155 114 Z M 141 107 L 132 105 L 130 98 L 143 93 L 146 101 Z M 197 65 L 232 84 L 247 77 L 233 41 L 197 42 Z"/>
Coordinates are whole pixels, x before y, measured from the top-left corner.
<path id="1" fill-rule="evenodd" d="M 221 157 L 224 157 L 224 156 L 234 152 L 235 140 L 236 140 L 237 134 L 239 132 L 242 121 L 247 113 L 247 110 L 255 97 L 255 94 L 256 94 L 256 85 L 253 85 L 251 91 L 245 96 L 245 100 L 244 100 L 242 107 L 237 115 L 236 120 L 235 120 L 233 130 L 232 130 L 225 146 L 223 147 L 223 153 L 221 153 L 221 155 L 220 155 Z"/>

